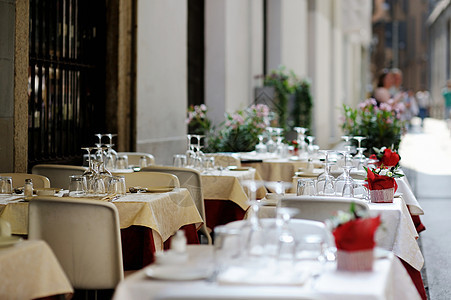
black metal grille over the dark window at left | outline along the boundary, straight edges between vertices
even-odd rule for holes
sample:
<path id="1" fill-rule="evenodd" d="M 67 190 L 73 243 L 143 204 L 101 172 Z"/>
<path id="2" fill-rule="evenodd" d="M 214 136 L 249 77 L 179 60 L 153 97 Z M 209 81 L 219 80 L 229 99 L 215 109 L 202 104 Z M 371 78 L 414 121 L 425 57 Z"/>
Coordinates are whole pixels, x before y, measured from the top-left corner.
<path id="1" fill-rule="evenodd" d="M 80 164 L 105 123 L 105 3 L 30 0 L 28 166 Z"/>

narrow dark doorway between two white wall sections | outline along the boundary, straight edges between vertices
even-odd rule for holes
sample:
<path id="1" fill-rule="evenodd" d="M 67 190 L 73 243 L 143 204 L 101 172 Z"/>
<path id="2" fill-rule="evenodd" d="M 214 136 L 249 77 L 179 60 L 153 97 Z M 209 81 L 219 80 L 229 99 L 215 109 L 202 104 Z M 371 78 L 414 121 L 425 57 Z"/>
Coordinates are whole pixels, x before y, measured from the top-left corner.
<path id="1" fill-rule="evenodd" d="M 205 101 L 205 0 L 188 0 L 188 105 Z"/>

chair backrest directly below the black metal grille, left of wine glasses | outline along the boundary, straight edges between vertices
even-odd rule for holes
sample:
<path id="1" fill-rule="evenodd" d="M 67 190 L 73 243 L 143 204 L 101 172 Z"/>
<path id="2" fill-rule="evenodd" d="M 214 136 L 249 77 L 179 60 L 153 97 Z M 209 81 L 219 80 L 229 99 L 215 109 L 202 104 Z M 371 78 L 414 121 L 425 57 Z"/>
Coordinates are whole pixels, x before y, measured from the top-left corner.
<path id="1" fill-rule="evenodd" d="M 31 173 L 43 175 L 50 180 L 50 186 L 55 188 L 69 189 L 71 175 L 83 175 L 87 170 L 82 166 L 40 164 L 31 169 Z"/>

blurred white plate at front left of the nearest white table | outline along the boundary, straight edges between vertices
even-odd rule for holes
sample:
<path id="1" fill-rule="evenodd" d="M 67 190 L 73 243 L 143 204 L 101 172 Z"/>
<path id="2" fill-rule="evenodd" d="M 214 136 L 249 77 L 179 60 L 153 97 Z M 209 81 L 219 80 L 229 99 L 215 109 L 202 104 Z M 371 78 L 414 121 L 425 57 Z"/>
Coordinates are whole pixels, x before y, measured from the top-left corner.
<path id="1" fill-rule="evenodd" d="M 182 267 L 180 265 L 152 266 L 146 269 L 146 275 L 160 280 L 199 280 L 210 276 L 205 268 Z"/>

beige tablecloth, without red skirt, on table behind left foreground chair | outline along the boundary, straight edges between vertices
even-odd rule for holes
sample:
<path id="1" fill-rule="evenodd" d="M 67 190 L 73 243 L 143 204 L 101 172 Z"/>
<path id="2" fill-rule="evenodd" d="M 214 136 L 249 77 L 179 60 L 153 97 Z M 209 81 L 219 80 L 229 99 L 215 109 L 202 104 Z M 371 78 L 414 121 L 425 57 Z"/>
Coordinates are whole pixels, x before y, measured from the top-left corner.
<path id="1" fill-rule="evenodd" d="M 0 197 L 0 217 L 10 222 L 13 234 L 26 235 L 28 202 L 20 202 L 21 199 L 23 197 Z M 162 250 L 163 242 L 183 225 L 202 223 L 194 200 L 185 188 L 169 193 L 127 194 L 113 204 L 119 211 L 121 228 L 138 225 L 152 229 L 157 251 Z"/>

